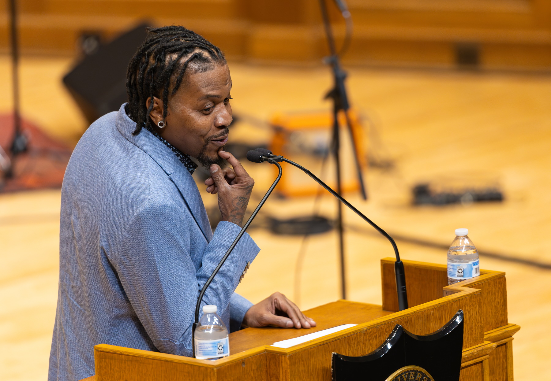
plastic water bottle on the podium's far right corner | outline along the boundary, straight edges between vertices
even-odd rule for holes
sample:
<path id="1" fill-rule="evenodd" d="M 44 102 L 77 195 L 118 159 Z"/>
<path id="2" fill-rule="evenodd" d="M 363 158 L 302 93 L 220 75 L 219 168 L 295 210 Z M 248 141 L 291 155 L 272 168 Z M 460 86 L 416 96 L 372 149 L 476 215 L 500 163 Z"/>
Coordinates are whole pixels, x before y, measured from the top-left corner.
<path id="1" fill-rule="evenodd" d="M 480 275 L 478 250 L 467 236 L 468 233 L 468 229 L 455 230 L 455 240 L 448 250 L 449 285 Z"/>

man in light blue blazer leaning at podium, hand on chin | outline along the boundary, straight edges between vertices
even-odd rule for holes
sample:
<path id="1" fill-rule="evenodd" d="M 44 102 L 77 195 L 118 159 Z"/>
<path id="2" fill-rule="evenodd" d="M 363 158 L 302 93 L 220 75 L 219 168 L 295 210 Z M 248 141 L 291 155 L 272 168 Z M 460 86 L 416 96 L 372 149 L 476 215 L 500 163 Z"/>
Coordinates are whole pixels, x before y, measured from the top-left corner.
<path id="1" fill-rule="evenodd" d="M 223 150 L 231 84 L 223 53 L 203 37 L 149 30 L 129 64 L 128 104 L 80 139 L 62 187 L 50 381 L 93 375 L 96 344 L 192 356 L 199 290 L 239 233 L 254 183 Z M 218 193 L 214 233 L 190 156 Z M 245 234 L 203 305 L 218 306 L 230 330 L 315 326 L 280 293 L 253 306 L 234 292 L 258 251 Z"/>

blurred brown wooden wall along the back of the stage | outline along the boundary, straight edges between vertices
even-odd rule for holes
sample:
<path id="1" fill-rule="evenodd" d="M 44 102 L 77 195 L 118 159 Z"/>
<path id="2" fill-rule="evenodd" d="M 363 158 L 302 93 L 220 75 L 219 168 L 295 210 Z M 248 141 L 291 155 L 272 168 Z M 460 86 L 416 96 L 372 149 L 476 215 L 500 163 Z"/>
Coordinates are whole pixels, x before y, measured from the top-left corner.
<path id="1" fill-rule="evenodd" d="M 455 67 L 456 43 L 469 42 L 479 46 L 481 68 L 551 69 L 551 0 L 348 3 L 355 29 L 344 62 Z M 342 17 L 332 1 L 328 8 L 341 41 Z M 327 54 L 317 0 L 21 0 L 20 11 L 21 46 L 29 53 L 74 55 L 83 31 L 110 37 L 149 19 L 197 30 L 234 59 L 319 64 Z M 4 51 L 6 28 L 1 3 Z"/>

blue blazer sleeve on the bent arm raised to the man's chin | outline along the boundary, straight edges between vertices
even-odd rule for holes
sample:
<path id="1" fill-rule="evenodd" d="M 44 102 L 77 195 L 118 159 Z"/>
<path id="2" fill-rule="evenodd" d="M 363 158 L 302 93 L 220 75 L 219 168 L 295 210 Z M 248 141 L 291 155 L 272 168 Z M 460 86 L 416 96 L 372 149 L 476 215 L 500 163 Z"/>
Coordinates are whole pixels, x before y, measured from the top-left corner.
<path id="1" fill-rule="evenodd" d="M 189 218 L 170 200 L 149 200 L 129 222 L 115 265 L 128 300 L 156 348 L 182 356 L 192 356 L 199 290 L 241 230 L 231 222 L 220 222 L 196 270 L 189 255 Z M 245 233 L 214 277 L 201 306 L 215 304 L 218 311 L 225 311 L 245 265 L 259 251 Z"/>

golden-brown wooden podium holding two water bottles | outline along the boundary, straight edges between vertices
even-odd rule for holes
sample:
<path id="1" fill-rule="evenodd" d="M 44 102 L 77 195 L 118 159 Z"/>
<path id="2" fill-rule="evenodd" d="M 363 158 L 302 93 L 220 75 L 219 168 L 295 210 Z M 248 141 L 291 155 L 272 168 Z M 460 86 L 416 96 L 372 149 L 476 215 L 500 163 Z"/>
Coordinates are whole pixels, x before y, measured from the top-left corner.
<path id="1" fill-rule="evenodd" d="M 246 328 L 230 334 L 230 356 L 222 360 L 100 344 L 94 347 L 96 375 L 90 381 L 142 380 L 331 380 L 331 353 L 361 356 L 374 351 L 396 324 L 425 335 L 464 312 L 461 380 L 512 381 L 512 335 L 520 326 L 507 322 L 505 273 L 480 270 L 480 276 L 447 286 L 446 265 L 404 260 L 409 308 L 396 312 L 394 259 L 381 260 L 382 306 L 337 301 L 306 312 L 317 326 L 309 330 Z M 276 341 L 333 326 L 358 324 L 288 349 Z"/>

